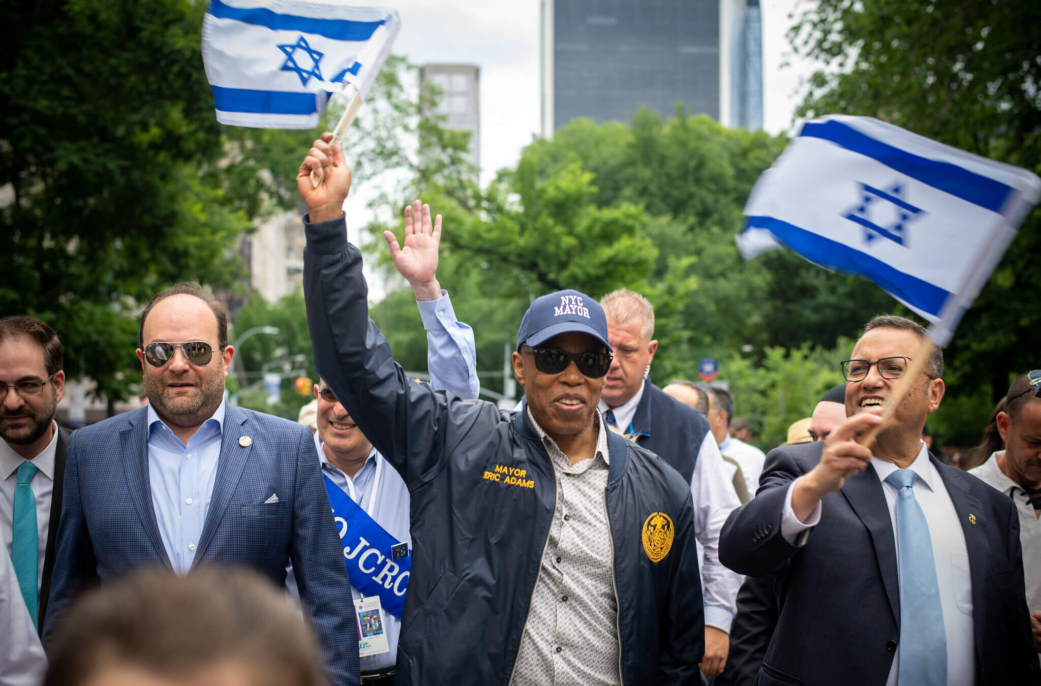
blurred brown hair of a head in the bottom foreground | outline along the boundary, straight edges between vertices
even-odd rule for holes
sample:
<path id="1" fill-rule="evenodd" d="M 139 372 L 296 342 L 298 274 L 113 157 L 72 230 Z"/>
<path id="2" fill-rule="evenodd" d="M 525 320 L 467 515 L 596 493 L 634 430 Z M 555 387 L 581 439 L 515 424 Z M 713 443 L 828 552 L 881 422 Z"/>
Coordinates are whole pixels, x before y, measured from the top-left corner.
<path id="1" fill-rule="evenodd" d="M 61 619 L 51 647 L 45 686 L 77 686 L 109 665 L 179 679 L 225 661 L 264 684 L 327 683 L 313 632 L 250 569 L 145 571 L 95 589 Z"/>

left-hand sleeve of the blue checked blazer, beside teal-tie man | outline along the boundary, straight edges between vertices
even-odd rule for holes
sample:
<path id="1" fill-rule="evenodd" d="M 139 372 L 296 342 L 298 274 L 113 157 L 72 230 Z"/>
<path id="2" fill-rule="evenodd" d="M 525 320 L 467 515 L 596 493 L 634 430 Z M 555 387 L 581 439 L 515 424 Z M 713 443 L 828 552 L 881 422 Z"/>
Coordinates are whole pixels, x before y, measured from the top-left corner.
<path id="1" fill-rule="evenodd" d="M 98 561 L 94 556 L 91 534 L 86 530 L 79 498 L 79 465 L 76 459 L 76 432 L 66 448 L 65 485 L 61 489 L 61 520 L 55 544 L 54 571 L 44 617 L 43 642 L 54 641 L 55 626 L 83 586 L 97 583 Z"/>

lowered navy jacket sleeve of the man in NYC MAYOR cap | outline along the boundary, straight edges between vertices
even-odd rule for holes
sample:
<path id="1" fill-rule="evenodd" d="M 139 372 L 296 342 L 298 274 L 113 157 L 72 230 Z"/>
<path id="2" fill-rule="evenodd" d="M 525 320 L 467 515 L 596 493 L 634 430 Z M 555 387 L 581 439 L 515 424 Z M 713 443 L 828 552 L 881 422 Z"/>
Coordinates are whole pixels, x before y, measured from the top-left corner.
<path id="1" fill-rule="evenodd" d="M 694 505 L 689 491 L 676 523 L 676 556 L 668 584 L 665 612 L 659 626 L 658 683 L 697 684 L 697 665 L 705 657 L 705 604 L 697 571 Z"/>

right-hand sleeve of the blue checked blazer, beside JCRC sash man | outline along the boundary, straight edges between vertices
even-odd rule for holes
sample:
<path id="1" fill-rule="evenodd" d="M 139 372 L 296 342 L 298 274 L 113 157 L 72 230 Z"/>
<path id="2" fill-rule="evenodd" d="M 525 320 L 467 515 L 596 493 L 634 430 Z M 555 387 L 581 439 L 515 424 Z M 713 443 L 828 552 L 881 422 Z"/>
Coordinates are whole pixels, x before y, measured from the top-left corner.
<path id="1" fill-rule="evenodd" d="M 361 677 L 351 580 L 319 465 L 314 439 L 301 427 L 289 559 L 331 683 L 355 686 Z"/>

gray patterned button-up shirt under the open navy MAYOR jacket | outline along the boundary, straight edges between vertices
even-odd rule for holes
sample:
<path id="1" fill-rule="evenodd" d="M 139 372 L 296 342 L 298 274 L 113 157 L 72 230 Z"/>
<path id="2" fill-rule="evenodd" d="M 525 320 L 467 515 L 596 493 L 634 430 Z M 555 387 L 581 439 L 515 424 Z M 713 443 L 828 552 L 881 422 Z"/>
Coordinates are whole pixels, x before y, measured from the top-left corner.
<path id="1" fill-rule="evenodd" d="M 557 504 L 510 683 L 620 684 L 607 433 L 598 413 L 596 454 L 572 464 L 528 417 L 553 462 Z"/>

